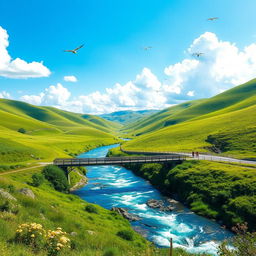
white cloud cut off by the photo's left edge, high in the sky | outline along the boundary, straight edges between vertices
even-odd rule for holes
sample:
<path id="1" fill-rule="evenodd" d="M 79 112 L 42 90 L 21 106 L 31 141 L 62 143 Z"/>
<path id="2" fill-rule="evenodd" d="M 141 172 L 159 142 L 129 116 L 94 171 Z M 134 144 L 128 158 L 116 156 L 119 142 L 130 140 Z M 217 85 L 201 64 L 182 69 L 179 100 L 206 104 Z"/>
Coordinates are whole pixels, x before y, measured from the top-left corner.
<path id="1" fill-rule="evenodd" d="M 16 58 L 12 59 L 7 51 L 9 46 L 8 33 L 0 26 L 0 76 L 8 78 L 47 77 L 50 70 L 42 62 L 31 62 Z"/>

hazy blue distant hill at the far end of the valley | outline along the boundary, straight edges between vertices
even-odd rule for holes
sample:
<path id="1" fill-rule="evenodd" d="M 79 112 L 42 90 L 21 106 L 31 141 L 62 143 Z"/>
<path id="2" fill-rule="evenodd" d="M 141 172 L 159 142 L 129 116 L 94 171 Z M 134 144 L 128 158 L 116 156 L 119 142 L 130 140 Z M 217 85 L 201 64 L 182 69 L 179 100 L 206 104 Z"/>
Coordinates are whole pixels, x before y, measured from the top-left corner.
<path id="1" fill-rule="evenodd" d="M 128 124 L 156 112 L 158 112 L 158 110 L 139 110 L 139 111 L 125 110 L 125 111 L 113 112 L 110 114 L 102 114 L 99 116 L 112 122 L 118 122 L 120 124 Z"/>

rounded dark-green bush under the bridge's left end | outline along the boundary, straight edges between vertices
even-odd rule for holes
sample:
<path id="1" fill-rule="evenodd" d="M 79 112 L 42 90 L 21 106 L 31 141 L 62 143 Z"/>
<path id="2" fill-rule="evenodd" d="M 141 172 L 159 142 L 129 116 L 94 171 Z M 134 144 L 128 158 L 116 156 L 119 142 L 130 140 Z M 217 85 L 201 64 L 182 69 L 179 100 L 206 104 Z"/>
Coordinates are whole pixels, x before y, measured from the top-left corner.
<path id="1" fill-rule="evenodd" d="M 62 169 L 55 165 L 47 165 L 42 171 L 44 177 L 52 183 L 53 187 L 60 192 L 68 192 L 69 184 Z"/>

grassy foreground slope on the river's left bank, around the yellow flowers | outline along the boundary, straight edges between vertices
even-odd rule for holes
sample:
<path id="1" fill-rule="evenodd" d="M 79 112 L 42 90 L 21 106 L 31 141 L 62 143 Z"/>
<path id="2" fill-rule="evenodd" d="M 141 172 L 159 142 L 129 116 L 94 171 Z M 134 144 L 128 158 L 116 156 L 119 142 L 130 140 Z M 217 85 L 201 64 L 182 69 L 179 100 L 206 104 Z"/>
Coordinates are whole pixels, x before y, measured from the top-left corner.
<path id="1" fill-rule="evenodd" d="M 9 211 L 3 211 L 6 200 L 0 196 L 0 255 L 32 256 L 35 255 L 28 246 L 13 243 L 18 225 L 36 222 L 46 229 L 55 230 L 61 227 L 71 240 L 71 249 L 58 255 L 70 256 L 164 256 L 167 249 L 157 249 L 142 236 L 134 232 L 127 220 L 116 213 L 100 206 L 89 204 L 72 194 L 55 191 L 48 182 L 40 187 L 32 187 L 27 183 L 31 175 L 40 170 L 16 173 L 0 177 L 0 188 L 9 191 L 17 201 L 12 202 Z M 27 187 L 35 194 L 35 199 L 19 193 L 19 189 Z M 86 209 L 93 208 L 94 211 Z M 120 231 L 132 234 L 131 241 L 118 235 Z M 39 251 L 37 255 L 47 255 Z M 193 254 L 175 250 L 174 256 Z"/>

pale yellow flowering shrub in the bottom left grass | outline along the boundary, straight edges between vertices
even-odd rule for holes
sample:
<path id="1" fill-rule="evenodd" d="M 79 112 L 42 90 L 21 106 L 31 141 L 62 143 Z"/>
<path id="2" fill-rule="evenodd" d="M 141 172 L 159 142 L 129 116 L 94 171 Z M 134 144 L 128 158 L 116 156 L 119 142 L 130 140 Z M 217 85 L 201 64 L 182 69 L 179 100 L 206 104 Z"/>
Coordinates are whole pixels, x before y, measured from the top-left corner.
<path id="1" fill-rule="evenodd" d="M 70 248 L 70 239 L 66 235 L 61 228 L 46 231 L 41 224 L 24 223 L 16 230 L 14 240 L 30 246 L 34 252 L 45 249 L 49 256 L 56 256 Z"/>

